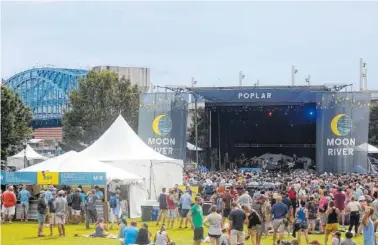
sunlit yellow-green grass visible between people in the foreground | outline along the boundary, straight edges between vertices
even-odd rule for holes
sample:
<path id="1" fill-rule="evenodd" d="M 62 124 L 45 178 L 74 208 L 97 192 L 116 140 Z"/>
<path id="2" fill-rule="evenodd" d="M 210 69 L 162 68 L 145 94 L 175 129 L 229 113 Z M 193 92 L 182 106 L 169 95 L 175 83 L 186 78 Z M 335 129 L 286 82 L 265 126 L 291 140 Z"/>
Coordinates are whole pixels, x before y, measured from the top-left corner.
<path id="1" fill-rule="evenodd" d="M 142 223 L 140 222 L 138 226 Z M 1 242 L 2 245 L 119 245 L 118 240 L 112 240 L 107 238 L 85 238 L 85 237 L 74 237 L 75 234 L 86 235 L 92 230 L 85 229 L 83 224 L 80 225 L 67 225 L 66 227 L 66 237 L 59 237 L 57 235 L 58 231 L 55 228 L 55 235 L 50 237 L 46 236 L 43 238 L 37 237 L 37 223 L 21 224 L 13 223 L 11 225 L 4 224 L 1 226 Z M 93 227 L 93 226 L 92 226 Z M 154 235 L 158 227 L 154 222 L 149 223 L 149 230 Z M 205 230 L 206 232 L 206 230 Z M 117 230 L 114 227 L 114 230 L 111 230 L 110 233 L 117 234 Z M 49 235 L 50 231 L 48 227 L 45 227 L 45 234 Z M 176 242 L 177 245 L 190 245 L 192 244 L 193 232 L 190 229 L 178 229 L 173 228 L 168 230 L 168 234 L 172 240 Z M 343 234 L 344 237 L 344 234 Z M 285 239 L 290 240 L 291 238 L 285 237 Z M 302 238 L 304 239 L 304 238 Z M 310 235 L 310 241 L 318 240 L 320 244 L 323 244 L 324 236 L 323 235 Z M 355 239 L 357 245 L 362 245 L 362 238 L 358 237 Z M 206 244 L 206 243 L 203 243 Z M 207 243 L 209 244 L 209 243 Z M 247 241 L 246 245 L 251 244 L 251 241 Z M 263 245 L 272 245 L 272 236 L 263 238 Z M 304 240 L 302 240 L 302 244 Z M 330 242 L 329 242 L 330 244 Z"/>

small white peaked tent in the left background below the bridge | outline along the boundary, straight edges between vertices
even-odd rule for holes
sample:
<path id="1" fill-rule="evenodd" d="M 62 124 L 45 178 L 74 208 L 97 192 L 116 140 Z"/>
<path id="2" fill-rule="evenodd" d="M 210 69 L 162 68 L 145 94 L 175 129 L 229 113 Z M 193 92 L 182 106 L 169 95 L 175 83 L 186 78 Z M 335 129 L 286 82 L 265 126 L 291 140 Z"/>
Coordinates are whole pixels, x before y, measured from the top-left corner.
<path id="1" fill-rule="evenodd" d="M 47 157 L 38 154 L 30 145 L 26 145 L 25 150 L 22 150 L 16 155 L 7 158 L 7 166 L 15 167 L 16 169 L 24 168 L 25 156 L 27 160 L 26 166 L 34 165 L 48 159 Z"/>

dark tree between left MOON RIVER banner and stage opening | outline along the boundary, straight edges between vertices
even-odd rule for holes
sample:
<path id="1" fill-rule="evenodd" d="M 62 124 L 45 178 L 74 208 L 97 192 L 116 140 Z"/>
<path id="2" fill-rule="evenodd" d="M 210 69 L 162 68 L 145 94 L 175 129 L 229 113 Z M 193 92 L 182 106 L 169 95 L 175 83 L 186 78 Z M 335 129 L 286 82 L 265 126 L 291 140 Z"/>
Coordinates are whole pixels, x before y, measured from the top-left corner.
<path id="1" fill-rule="evenodd" d="M 195 119 L 196 113 L 193 110 L 193 115 L 191 116 L 191 123 L 190 127 L 188 128 L 188 141 L 193 145 L 196 145 L 196 127 L 195 127 Z M 198 107 L 197 108 L 197 130 L 198 130 L 198 147 L 205 149 L 207 147 L 207 131 L 205 125 L 205 108 Z"/>

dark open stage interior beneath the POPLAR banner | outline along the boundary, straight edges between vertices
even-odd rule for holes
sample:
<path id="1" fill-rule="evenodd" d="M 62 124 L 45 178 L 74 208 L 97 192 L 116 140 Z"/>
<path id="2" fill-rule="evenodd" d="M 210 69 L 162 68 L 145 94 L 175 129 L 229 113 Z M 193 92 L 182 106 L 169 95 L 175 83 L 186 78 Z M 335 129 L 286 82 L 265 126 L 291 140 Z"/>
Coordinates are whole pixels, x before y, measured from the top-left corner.
<path id="1" fill-rule="evenodd" d="M 315 161 L 316 104 L 207 106 L 210 156 L 221 162 L 266 153 Z M 227 161 L 228 158 L 228 161 Z M 210 162 L 210 160 L 208 160 Z M 243 165 L 242 165 L 243 166 Z M 226 168 L 229 166 L 226 163 Z"/>

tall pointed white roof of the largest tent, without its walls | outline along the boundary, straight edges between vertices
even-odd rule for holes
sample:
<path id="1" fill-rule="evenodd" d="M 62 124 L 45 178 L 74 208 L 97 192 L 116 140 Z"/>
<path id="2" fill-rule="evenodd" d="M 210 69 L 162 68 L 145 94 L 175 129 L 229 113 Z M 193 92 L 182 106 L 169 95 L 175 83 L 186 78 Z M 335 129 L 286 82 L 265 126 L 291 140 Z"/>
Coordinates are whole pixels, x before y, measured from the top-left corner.
<path id="1" fill-rule="evenodd" d="M 97 141 L 81 153 L 100 161 L 142 159 L 177 161 L 156 152 L 144 143 L 121 115 Z"/>

